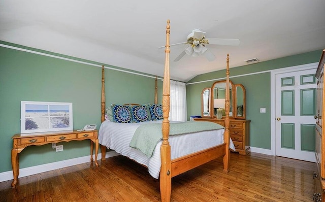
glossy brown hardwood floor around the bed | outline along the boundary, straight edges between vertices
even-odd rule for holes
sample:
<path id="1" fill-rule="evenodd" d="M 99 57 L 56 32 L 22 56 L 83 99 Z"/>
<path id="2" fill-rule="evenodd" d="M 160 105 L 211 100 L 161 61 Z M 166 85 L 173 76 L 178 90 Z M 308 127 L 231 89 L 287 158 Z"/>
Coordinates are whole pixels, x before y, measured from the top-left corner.
<path id="1" fill-rule="evenodd" d="M 0 201 L 160 201 L 159 181 L 122 156 L 0 183 Z M 231 153 L 230 173 L 216 159 L 172 179 L 171 201 L 312 201 L 315 164 Z"/>

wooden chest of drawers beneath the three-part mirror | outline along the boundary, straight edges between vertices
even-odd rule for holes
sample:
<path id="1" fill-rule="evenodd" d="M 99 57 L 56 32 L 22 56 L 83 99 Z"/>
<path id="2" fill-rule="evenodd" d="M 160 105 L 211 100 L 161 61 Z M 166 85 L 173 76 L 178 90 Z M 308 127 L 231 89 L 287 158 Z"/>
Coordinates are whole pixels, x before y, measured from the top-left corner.
<path id="1" fill-rule="evenodd" d="M 210 121 L 224 126 L 224 119 L 216 118 L 194 118 L 194 121 Z M 235 145 L 236 152 L 241 155 L 250 153 L 249 147 L 249 123 L 250 120 L 230 119 L 230 137 Z"/>

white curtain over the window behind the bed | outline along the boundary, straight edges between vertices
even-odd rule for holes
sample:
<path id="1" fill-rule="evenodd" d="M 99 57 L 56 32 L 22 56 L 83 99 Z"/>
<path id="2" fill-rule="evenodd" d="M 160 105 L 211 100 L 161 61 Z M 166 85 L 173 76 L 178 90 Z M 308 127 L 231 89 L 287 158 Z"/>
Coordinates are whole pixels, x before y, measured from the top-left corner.
<path id="1" fill-rule="evenodd" d="M 186 86 L 183 82 L 171 81 L 170 88 L 170 121 L 187 121 Z"/>

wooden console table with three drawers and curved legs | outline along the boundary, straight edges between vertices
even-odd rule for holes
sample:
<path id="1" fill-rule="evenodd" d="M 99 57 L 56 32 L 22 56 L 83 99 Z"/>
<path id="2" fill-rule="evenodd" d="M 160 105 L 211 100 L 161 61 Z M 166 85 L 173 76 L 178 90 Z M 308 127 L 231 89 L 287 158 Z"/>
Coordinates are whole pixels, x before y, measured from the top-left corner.
<path id="1" fill-rule="evenodd" d="M 27 134 L 15 134 L 12 137 L 14 144 L 11 150 L 11 165 L 12 172 L 14 175 L 12 187 L 15 187 L 18 182 L 19 175 L 19 156 L 18 154 L 28 146 L 31 145 L 45 145 L 48 143 L 59 143 L 69 142 L 72 140 L 90 140 L 90 161 L 93 161 L 93 143 L 95 144 L 95 164 L 98 166 L 97 155 L 98 155 L 98 131 L 77 131 L 77 130 L 66 130 L 57 132 L 40 132 L 40 133 L 27 133 Z"/>

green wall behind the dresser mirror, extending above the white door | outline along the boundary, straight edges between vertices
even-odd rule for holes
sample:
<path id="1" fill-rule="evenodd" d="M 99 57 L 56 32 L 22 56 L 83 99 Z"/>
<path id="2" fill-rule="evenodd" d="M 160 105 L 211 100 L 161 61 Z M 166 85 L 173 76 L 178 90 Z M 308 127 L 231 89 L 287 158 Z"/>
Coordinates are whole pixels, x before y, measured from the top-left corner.
<path id="1" fill-rule="evenodd" d="M 271 149 L 270 70 L 318 62 L 320 59 L 321 51 L 322 50 L 317 50 L 234 68 L 232 68 L 230 55 L 230 76 L 236 76 L 234 78 L 231 78 L 231 80 L 234 84 L 243 84 L 246 89 L 246 119 L 251 120 L 249 141 L 249 145 L 251 147 Z M 224 63 L 226 63 L 225 60 Z M 267 72 L 262 73 L 264 71 Z M 186 95 L 188 120 L 189 116 L 201 115 L 201 92 L 203 88 L 211 87 L 217 79 L 224 77 L 225 70 L 221 70 L 198 75 L 197 77 L 194 77 L 187 82 Z M 259 108 L 266 108 L 266 113 L 259 113 Z"/>

